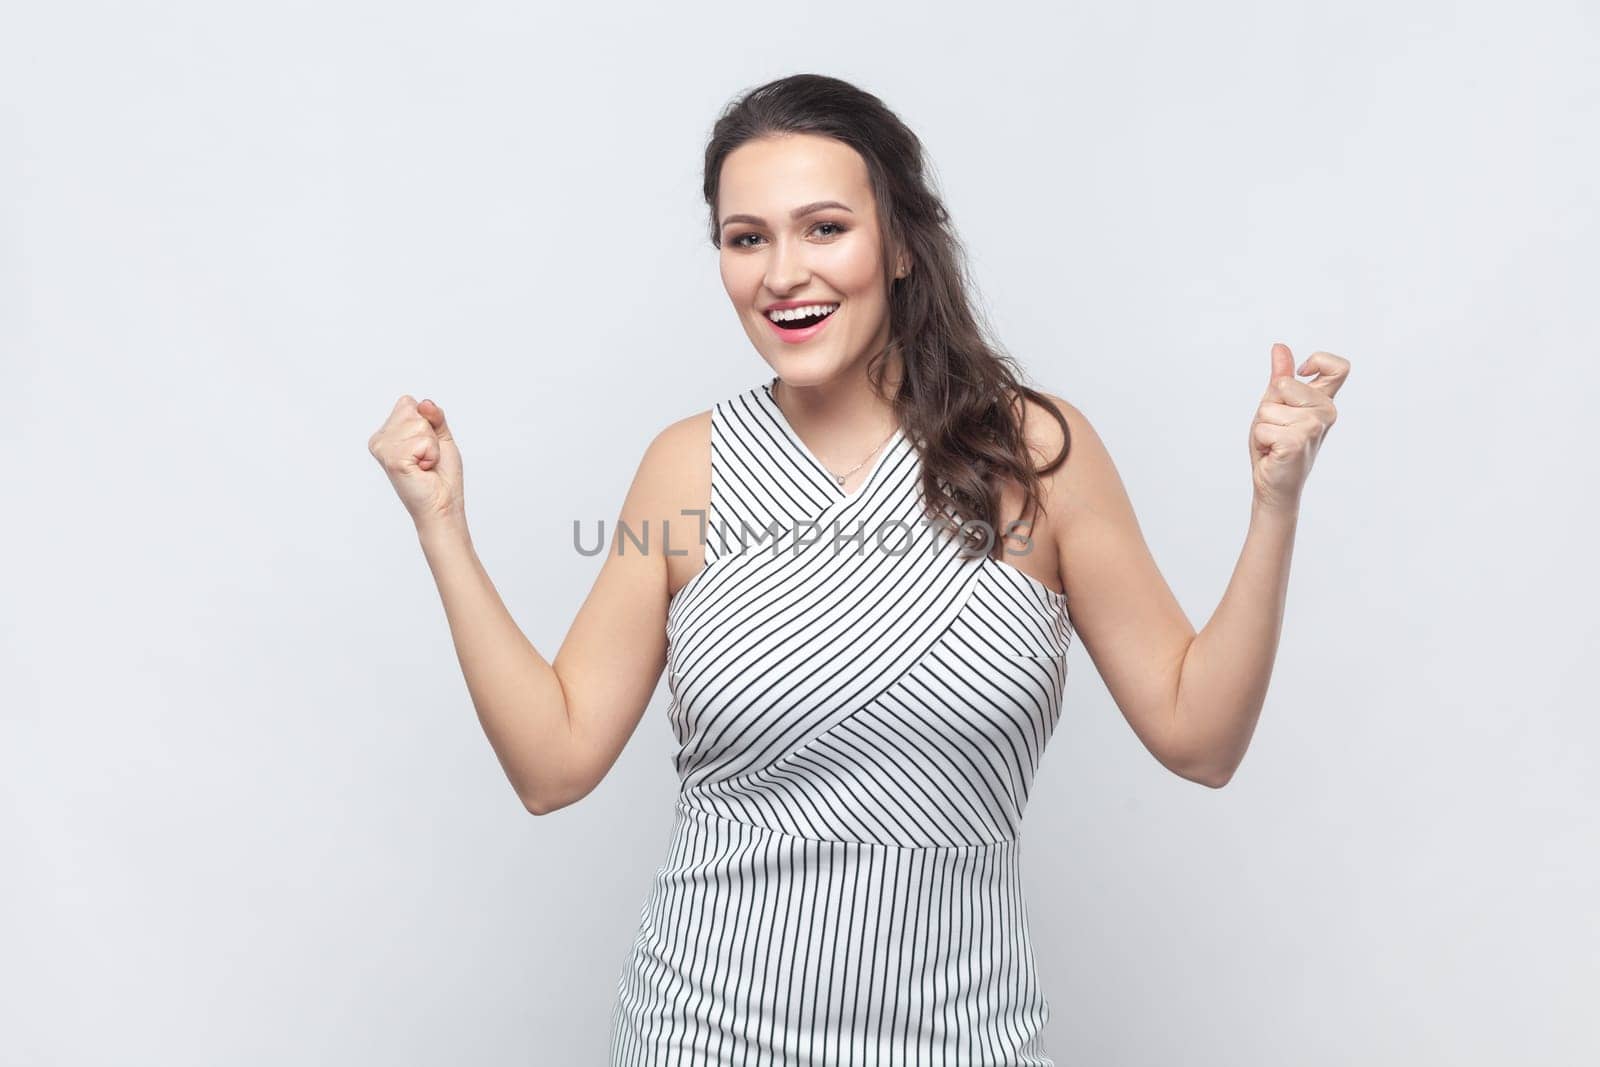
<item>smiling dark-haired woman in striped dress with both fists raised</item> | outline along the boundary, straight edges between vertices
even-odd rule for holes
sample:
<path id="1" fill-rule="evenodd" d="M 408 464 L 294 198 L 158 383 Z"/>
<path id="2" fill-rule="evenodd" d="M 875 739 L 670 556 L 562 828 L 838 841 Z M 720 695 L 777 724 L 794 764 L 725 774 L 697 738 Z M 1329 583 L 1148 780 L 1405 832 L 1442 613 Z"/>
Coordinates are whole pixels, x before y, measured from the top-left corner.
<path id="1" fill-rule="evenodd" d="M 1226 784 L 1349 363 L 1314 354 L 1299 382 L 1274 346 L 1250 534 L 1197 635 L 1093 427 L 986 344 L 922 147 L 875 96 L 749 93 L 704 192 L 773 374 L 651 442 L 554 662 L 472 553 L 440 406 L 402 397 L 370 443 L 530 811 L 600 782 L 669 669 L 682 789 L 611 1062 L 1050 1064 L 1018 833 L 1070 635 L 1155 758 Z"/>

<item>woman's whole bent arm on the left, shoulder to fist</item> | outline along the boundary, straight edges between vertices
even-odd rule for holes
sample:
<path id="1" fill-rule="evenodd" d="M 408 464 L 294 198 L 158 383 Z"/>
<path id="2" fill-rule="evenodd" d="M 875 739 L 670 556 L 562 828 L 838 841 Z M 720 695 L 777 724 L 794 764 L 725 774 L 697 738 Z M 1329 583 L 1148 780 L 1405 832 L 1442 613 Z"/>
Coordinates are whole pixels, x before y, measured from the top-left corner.
<path id="1" fill-rule="evenodd" d="M 704 421 L 677 422 L 646 448 L 619 520 L 635 536 L 648 520 L 650 550 L 627 542 L 619 553 L 613 525 L 595 584 L 554 661 L 517 627 L 474 550 L 443 411 L 402 397 L 370 442 L 416 523 L 478 723 L 534 814 L 574 803 L 605 777 L 661 680 L 667 561 L 659 525 L 675 515 L 677 483 L 698 456 L 698 437 L 709 437 Z M 675 537 L 682 530 L 674 523 Z"/>

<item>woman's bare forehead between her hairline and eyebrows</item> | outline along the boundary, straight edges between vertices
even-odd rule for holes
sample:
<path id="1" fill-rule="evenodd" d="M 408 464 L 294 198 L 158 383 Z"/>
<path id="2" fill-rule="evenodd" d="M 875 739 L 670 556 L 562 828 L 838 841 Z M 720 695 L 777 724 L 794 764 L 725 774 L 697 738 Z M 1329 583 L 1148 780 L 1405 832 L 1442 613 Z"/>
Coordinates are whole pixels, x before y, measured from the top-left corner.
<path id="1" fill-rule="evenodd" d="M 867 163 L 834 138 L 792 133 L 746 141 L 722 162 L 722 214 L 776 218 L 816 200 L 840 200 L 864 214 L 872 205 Z"/>

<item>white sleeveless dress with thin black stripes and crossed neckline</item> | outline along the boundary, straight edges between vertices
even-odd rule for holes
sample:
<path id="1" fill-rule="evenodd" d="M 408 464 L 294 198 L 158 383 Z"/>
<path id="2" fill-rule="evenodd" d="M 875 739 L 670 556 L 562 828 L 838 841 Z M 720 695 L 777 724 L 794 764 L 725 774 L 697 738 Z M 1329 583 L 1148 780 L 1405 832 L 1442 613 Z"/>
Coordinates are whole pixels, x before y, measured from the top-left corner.
<path id="1" fill-rule="evenodd" d="M 1019 830 L 1067 598 L 923 520 L 902 430 L 840 488 L 776 381 L 712 410 L 667 611 L 682 787 L 610 1062 L 1048 1067 Z"/>

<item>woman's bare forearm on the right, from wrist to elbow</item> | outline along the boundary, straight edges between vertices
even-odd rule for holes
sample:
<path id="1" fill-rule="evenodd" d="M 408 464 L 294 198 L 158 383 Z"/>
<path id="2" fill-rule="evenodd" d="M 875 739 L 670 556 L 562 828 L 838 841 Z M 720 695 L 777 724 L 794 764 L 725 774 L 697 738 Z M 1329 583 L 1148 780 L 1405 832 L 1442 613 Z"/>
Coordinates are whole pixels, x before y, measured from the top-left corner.
<path id="1" fill-rule="evenodd" d="M 1184 656 L 1173 750 L 1197 781 L 1227 782 L 1250 747 L 1283 630 L 1298 522 L 1298 507 L 1251 506 L 1234 577 Z"/>

